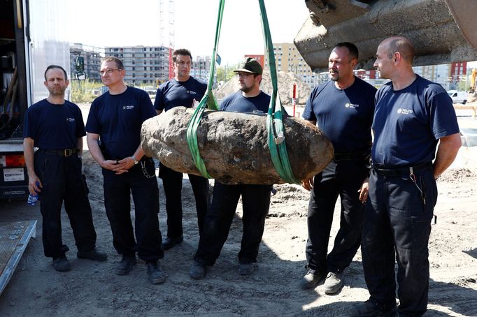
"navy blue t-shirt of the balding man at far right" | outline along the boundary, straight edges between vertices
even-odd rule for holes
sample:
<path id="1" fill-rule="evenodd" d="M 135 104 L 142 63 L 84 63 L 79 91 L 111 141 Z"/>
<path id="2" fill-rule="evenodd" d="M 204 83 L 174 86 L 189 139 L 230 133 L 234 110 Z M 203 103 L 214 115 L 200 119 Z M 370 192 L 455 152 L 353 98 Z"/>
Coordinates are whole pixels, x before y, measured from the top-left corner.
<path id="1" fill-rule="evenodd" d="M 439 138 L 459 133 L 459 126 L 446 90 L 418 75 L 398 91 L 391 82 L 380 87 L 373 133 L 373 163 L 392 168 L 432 161 Z"/>

